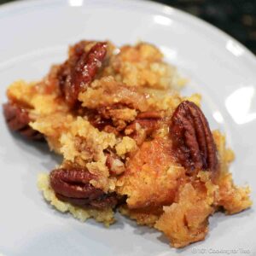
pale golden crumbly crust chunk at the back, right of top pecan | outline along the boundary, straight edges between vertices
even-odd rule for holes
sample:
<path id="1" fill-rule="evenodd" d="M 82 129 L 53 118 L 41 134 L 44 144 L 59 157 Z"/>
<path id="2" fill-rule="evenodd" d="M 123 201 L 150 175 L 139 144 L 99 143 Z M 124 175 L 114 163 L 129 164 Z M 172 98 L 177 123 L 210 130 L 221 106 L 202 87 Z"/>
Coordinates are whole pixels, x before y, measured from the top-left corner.
<path id="1" fill-rule="evenodd" d="M 129 86 L 168 89 L 183 86 L 184 80 L 177 75 L 175 67 L 163 60 L 159 49 L 152 44 L 139 43 L 135 47 L 125 45 L 119 55 L 113 55 L 105 75 L 113 77 Z"/>

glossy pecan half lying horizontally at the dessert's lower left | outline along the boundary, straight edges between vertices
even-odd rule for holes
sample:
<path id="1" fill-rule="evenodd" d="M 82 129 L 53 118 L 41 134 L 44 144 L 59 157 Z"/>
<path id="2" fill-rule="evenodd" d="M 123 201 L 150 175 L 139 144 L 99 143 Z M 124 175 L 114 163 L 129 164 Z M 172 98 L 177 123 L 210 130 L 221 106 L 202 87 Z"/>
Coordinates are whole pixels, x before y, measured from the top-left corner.
<path id="1" fill-rule="evenodd" d="M 96 176 L 84 169 L 55 169 L 50 173 L 50 186 L 61 201 L 79 207 L 103 209 L 115 207 L 118 199 L 114 193 L 106 194 L 90 184 Z"/>

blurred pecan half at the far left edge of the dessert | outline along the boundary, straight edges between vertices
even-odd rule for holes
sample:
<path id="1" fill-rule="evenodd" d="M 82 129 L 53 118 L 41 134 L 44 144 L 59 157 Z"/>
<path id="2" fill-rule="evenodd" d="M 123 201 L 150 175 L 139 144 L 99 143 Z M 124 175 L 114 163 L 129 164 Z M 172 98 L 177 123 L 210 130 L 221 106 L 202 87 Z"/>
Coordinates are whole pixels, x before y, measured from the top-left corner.
<path id="1" fill-rule="evenodd" d="M 35 131 L 28 125 L 32 119 L 29 117 L 26 108 L 21 108 L 13 102 L 7 102 L 3 104 L 3 114 L 10 130 L 18 131 L 23 137 L 28 139 L 44 140 L 42 133 Z"/>

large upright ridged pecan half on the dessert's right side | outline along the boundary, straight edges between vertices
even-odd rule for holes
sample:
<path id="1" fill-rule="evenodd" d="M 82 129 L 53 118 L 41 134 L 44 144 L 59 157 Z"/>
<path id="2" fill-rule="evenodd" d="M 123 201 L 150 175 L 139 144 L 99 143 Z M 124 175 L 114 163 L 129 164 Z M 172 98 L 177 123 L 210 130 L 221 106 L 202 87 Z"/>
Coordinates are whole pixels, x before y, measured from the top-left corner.
<path id="1" fill-rule="evenodd" d="M 189 172 L 216 170 L 217 149 L 205 115 L 194 102 L 181 102 L 170 127 L 177 160 Z"/>

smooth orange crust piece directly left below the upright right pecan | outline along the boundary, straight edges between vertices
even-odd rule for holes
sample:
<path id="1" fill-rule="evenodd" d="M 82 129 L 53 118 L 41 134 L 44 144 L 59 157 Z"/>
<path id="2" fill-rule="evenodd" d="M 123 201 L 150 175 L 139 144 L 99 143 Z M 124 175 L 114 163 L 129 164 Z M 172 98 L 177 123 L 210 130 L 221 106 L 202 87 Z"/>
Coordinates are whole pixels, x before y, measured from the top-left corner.
<path id="1" fill-rule="evenodd" d="M 128 160 L 117 189 L 121 195 L 128 196 L 126 202 L 131 209 L 159 207 L 172 204 L 184 179 L 183 167 L 173 160 L 170 141 L 156 138 L 144 142 Z"/>

